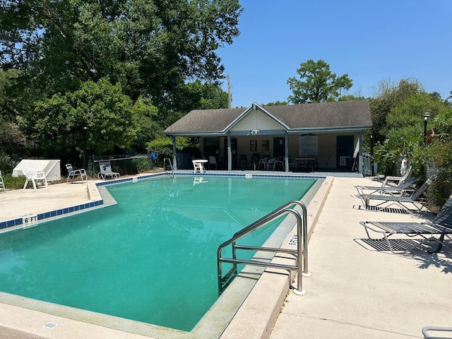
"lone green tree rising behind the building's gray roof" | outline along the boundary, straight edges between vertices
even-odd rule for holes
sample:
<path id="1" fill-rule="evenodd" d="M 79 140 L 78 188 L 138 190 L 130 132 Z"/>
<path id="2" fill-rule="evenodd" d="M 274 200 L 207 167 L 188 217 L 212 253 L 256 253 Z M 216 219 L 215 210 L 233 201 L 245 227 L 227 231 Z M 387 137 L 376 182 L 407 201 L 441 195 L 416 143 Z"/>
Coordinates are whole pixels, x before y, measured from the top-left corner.
<path id="1" fill-rule="evenodd" d="M 297 73 L 299 79 L 287 80 L 293 93 L 287 99 L 294 104 L 336 101 L 343 90 L 353 85 L 347 74 L 336 76 L 331 73 L 330 65 L 321 59 L 302 62 Z"/>

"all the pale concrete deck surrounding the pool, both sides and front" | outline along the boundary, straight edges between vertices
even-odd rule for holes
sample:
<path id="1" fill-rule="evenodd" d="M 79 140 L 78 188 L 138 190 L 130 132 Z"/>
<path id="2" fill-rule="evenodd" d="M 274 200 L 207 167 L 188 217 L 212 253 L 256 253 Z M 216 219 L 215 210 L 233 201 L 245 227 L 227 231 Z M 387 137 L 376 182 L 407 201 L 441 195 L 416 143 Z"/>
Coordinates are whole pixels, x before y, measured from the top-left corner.
<path id="1" fill-rule="evenodd" d="M 364 246 L 361 239 L 366 233 L 359 221 L 415 221 L 430 216 L 353 208 L 360 204 L 353 197 L 353 186 L 357 184 L 375 182 L 371 178 L 334 177 L 328 181 L 319 213 L 314 216 L 313 207 L 308 206 L 308 221 L 316 218 L 316 222 L 309 242 L 312 275 L 303 278 L 307 295 L 297 296 L 290 291 L 286 296 L 284 290 L 278 292 L 284 303 L 281 308 L 271 298 L 275 292 L 270 291 L 280 281 L 288 287 L 287 277 L 284 273 L 265 273 L 269 280 L 256 284 L 250 293 L 250 300 L 254 300 L 244 302 L 222 338 L 422 338 L 424 326 L 452 326 L 451 242 L 448 240 L 439 254 L 416 249 L 406 254 L 388 254 Z M 94 182 L 88 185 L 92 187 Z M 57 184 L 36 191 L 0 193 L 0 221 L 11 219 L 11 215 L 16 218 L 25 211 L 40 213 L 90 201 L 93 197 L 88 194 L 88 185 Z M 256 293 L 257 298 L 253 297 Z M 275 310 L 270 315 L 263 314 L 271 303 Z M 44 327 L 48 322 L 58 325 Z M 0 304 L 0 338 L 149 337 Z"/>

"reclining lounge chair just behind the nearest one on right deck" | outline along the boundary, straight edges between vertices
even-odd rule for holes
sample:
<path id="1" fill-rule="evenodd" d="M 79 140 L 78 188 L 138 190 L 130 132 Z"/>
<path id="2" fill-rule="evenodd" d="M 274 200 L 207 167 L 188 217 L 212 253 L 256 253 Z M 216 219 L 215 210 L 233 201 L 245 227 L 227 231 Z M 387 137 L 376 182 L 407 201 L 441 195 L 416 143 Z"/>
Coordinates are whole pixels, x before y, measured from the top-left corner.
<path id="1" fill-rule="evenodd" d="M 406 204 L 411 203 L 417 210 L 422 210 L 422 207 L 424 207 L 424 203 L 420 201 L 420 198 L 422 194 L 424 194 L 424 191 L 427 190 L 427 188 L 434 182 L 434 179 L 436 179 L 436 175 L 433 174 L 432 177 L 427 179 L 422 186 L 420 186 L 419 189 L 417 189 L 411 196 L 393 196 L 391 194 L 358 194 L 357 198 L 360 198 L 362 200 L 363 205 L 366 207 L 366 209 L 370 210 L 386 210 L 391 205 L 398 205 L 401 208 L 407 210 L 408 212 L 411 212 L 410 208 L 406 206 Z M 381 201 L 381 203 L 377 203 L 374 206 L 370 205 L 371 200 L 377 200 Z M 384 205 L 388 203 L 388 205 Z"/>

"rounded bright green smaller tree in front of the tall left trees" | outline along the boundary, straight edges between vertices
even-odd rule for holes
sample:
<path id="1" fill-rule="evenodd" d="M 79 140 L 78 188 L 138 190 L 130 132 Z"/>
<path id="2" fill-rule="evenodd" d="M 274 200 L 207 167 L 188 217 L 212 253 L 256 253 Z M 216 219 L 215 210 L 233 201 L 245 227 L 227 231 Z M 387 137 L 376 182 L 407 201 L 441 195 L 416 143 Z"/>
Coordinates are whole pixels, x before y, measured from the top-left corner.
<path id="1" fill-rule="evenodd" d="M 86 81 L 81 89 L 37 102 L 20 125 L 40 146 L 42 155 L 80 161 L 85 153 L 103 154 L 124 148 L 136 138 L 136 104 L 103 78 Z"/>

